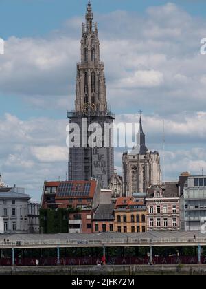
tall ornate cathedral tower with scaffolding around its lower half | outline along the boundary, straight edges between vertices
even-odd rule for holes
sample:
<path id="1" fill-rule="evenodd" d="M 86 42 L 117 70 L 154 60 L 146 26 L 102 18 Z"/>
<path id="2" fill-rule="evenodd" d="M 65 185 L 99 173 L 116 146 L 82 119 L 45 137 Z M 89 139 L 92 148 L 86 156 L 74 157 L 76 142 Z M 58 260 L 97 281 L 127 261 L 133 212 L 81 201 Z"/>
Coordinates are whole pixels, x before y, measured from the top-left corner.
<path id="1" fill-rule="evenodd" d="M 76 123 L 83 131 L 81 147 L 72 147 L 69 153 L 69 180 L 100 180 L 102 189 L 108 188 L 108 181 L 114 171 L 114 151 L 112 135 L 109 133 L 104 147 L 104 124 L 112 125 L 115 116 L 108 111 L 106 102 L 106 81 L 104 63 L 100 61 L 100 41 L 98 24 L 93 23 L 91 3 L 87 5 L 86 23 L 82 24 L 81 61 L 77 64 L 76 110 L 68 113 L 70 123 Z M 98 123 L 102 127 L 102 147 L 91 149 L 83 146 L 82 120 L 89 125 Z M 87 133 L 88 134 L 88 133 Z M 88 140 L 88 139 L 87 139 Z"/>

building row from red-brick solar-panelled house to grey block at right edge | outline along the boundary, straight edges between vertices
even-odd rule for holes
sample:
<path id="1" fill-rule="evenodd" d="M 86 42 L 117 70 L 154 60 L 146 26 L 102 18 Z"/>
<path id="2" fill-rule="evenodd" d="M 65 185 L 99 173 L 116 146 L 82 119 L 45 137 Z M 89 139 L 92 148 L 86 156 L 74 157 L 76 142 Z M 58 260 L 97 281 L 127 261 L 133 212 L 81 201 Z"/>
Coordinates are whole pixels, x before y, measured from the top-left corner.
<path id="1" fill-rule="evenodd" d="M 98 180 L 45 182 L 41 207 L 78 209 L 69 214 L 69 233 L 199 230 L 206 220 L 206 177 L 183 173 L 179 182 L 115 202 Z"/>

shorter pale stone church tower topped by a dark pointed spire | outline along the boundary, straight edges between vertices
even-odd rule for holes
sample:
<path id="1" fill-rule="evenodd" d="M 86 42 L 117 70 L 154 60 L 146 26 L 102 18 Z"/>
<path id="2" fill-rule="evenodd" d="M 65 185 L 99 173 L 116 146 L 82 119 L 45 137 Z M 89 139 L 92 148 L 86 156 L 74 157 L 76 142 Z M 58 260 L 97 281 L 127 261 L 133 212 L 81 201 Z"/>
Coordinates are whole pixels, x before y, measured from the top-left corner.
<path id="1" fill-rule="evenodd" d="M 146 193 L 150 186 L 161 184 L 159 153 L 149 151 L 146 147 L 141 116 L 137 147 L 134 147 L 130 153 L 123 154 L 122 164 L 124 195 L 127 197 L 131 197 L 133 193 Z"/>

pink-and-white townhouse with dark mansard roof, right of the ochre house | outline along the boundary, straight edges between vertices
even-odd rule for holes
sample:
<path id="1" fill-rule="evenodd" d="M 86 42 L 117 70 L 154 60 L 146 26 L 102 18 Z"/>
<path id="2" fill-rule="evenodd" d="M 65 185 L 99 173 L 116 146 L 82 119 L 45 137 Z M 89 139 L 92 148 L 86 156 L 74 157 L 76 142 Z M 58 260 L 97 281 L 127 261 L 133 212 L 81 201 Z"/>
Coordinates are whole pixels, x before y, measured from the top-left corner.
<path id="1" fill-rule="evenodd" d="M 177 182 L 166 182 L 165 185 L 152 186 L 148 189 L 146 196 L 148 231 L 179 231 L 179 191 Z"/>

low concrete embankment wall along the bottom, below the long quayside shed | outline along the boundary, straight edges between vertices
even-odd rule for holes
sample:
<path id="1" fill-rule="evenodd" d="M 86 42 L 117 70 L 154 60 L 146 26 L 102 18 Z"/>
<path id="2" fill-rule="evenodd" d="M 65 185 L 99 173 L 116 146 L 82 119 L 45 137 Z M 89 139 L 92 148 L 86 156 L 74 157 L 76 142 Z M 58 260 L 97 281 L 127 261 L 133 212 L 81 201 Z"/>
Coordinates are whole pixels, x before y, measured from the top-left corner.
<path id="1" fill-rule="evenodd" d="M 206 265 L 1 267 L 0 275 L 206 275 Z"/>

